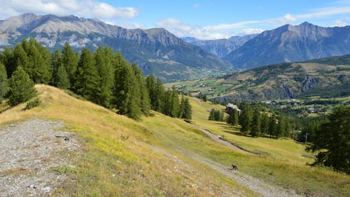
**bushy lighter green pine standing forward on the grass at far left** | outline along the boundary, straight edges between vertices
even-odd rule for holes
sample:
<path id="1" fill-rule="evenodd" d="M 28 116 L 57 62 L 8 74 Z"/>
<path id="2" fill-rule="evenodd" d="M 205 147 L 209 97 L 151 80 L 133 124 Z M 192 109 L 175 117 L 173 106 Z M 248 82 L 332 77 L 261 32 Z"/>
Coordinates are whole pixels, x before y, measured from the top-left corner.
<path id="1" fill-rule="evenodd" d="M 26 102 L 36 95 L 34 83 L 29 79 L 28 74 L 17 67 L 13 75 L 8 80 L 8 104 L 15 106 L 21 102 Z"/>

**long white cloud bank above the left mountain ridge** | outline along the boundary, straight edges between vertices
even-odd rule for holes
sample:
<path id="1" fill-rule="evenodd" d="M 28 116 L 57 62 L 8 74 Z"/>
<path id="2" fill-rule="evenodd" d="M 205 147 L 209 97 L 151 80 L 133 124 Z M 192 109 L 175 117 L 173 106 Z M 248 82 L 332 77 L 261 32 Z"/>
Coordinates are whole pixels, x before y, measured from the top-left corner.
<path id="1" fill-rule="evenodd" d="M 134 18 L 137 8 L 117 8 L 96 0 L 0 0 L 1 18 L 21 13 L 79 15 L 89 18 Z"/>

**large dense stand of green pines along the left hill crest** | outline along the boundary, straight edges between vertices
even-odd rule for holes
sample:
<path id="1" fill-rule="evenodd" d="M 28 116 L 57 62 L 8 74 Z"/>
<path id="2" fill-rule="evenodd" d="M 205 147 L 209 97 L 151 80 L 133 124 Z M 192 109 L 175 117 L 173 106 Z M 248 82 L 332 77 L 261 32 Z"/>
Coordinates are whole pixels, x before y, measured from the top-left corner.
<path id="1" fill-rule="evenodd" d="M 109 47 L 99 47 L 94 53 L 83 48 L 76 53 L 65 43 L 62 51 L 51 53 L 31 38 L 13 49 L 5 48 L 0 54 L 0 102 L 7 97 L 14 106 L 29 100 L 35 95 L 36 83 L 71 90 L 134 119 L 147 116 L 151 109 L 191 118 L 189 100 L 179 100 L 178 90 L 165 90 L 160 79 L 146 78 L 137 64 L 130 64 Z"/>

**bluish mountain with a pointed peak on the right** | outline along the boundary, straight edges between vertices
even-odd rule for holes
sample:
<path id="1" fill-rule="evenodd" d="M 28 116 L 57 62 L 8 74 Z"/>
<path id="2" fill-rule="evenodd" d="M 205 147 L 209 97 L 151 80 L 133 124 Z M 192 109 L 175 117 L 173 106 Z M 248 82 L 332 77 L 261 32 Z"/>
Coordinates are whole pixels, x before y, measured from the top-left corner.
<path id="1" fill-rule="evenodd" d="M 232 51 L 225 60 L 248 69 L 350 53 L 350 26 L 318 27 L 308 22 L 262 32 Z"/>

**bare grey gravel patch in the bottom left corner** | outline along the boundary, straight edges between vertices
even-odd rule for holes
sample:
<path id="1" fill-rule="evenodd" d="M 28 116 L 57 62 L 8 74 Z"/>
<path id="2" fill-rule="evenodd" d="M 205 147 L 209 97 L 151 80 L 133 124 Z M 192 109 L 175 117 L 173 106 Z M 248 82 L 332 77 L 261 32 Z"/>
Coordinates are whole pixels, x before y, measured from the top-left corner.
<path id="1" fill-rule="evenodd" d="M 34 119 L 0 128 L 0 196 L 50 196 L 64 186 L 67 177 L 54 168 L 74 168 L 68 158 L 79 146 L 76 137 L 59 130 L 62 125 Z"/>

